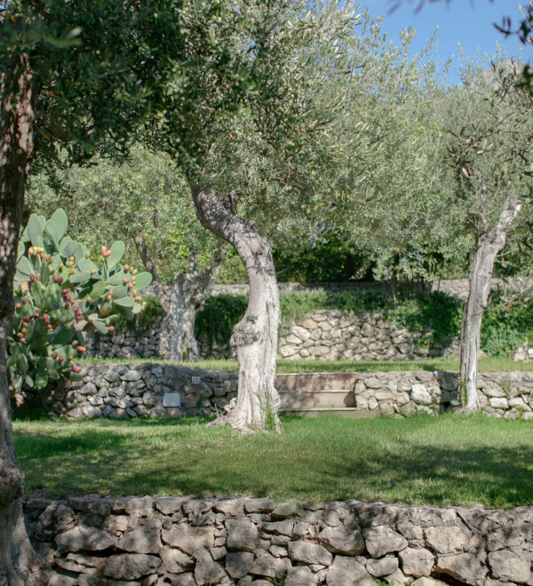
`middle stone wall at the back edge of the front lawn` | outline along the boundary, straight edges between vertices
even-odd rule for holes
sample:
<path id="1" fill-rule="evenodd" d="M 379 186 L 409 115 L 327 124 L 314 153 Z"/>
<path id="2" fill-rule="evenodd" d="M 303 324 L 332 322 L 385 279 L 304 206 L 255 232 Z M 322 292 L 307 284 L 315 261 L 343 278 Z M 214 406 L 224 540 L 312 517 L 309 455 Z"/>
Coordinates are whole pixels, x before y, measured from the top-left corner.
<path id="1" fill-rule="evenodd" d="M 237 391 L 236 373 L 151 363 L 82 366 L 82 381 L 44 397 L 53 413 L 73 419 L 215 415 Z M 446 371 L 278 375 L 276 387 L 287 410 L 337 408 L 361 417 L 437 415 L 459 402 L 457 373 Z M 533 372 L 480 373 L 478 396 L 489 416 L 533 419 Z M 15 400 L 28 403 L 24 395 Z"/>

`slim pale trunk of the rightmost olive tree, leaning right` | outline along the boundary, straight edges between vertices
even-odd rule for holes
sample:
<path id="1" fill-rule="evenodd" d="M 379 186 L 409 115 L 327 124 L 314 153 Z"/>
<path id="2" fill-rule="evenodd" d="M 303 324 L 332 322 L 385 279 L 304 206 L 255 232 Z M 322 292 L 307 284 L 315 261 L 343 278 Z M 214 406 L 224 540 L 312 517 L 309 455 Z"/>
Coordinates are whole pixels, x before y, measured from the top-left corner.
<path id="1" fill-rule="evenodd" d="M 480 351 L 481 319 L 487 307 L 492 281 L 492 270 L 498 252 L 505 247 L 507 234 L 521 210 L 514 194 L 505 200 L 497 225 L 478 238 L 477 248 L 470 261 L 470 292 L 466 300 L 461 324 L 460 384 L 465 410 L 480 408 L 477 395 L 478 354 Z"/>

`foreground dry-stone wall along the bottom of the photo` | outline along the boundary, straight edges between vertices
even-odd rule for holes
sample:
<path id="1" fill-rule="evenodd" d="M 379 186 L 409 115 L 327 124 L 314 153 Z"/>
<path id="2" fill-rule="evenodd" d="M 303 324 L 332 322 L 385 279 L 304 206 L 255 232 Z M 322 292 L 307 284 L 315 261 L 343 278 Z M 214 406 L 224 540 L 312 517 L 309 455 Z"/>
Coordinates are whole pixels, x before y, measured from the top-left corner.
<path id="1" fill-rule="evenodd" d="M 51 586 L 533 581 L 533 507 L 143 496 L 36 498 L 24 511 Z"/>

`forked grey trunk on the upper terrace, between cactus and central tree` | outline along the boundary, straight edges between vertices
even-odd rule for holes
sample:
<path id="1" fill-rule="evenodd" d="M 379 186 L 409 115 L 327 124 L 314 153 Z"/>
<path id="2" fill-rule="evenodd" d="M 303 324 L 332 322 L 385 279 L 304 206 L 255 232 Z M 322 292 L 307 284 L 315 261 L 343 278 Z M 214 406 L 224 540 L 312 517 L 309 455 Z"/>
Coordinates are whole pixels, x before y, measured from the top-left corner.
<path id="1" fill-rule="evenodd" d="M 214 277 L 222 263 L 222 255 L 215 255 L 211 265 L 199 273 L 194 251 L 189 261 L 188 272 L 176 276 L 169 297 L 159 279 L 147 243 L 142 236 L 137 236 L 135 244 L 145 268 L 152 275 L 155 295 L 166 313 L 160 328 L 159 356 L 176 362 L 200 360 L 195 337 L 196 313 L 203 308 L 205 297 L 211 293 Z"/>

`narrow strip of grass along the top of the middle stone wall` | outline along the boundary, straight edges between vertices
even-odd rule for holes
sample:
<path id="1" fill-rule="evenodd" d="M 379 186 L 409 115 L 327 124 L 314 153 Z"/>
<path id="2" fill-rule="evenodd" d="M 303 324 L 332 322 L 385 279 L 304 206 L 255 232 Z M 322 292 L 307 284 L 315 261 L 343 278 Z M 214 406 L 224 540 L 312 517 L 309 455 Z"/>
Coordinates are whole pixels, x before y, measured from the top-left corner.
<path id="1" fill-rule="evenodd" d="M 102 359 L 87 358 L 90 363 L 135 363 L 175 364 L 191 368 L 207 368 L 235 372 L 236 360 L 202 360 L 200 362 L 170 362 L 156 359 Z M 509 372 L 511 370 L 533 370 L 533 362 L 514 362 L 508 358 L 484 357 L 479 360 L 480 372 Z M 383 370 L 458 370 L 459 361 L 452 358 L 428 360 L 278 360 L 277 372 L 377 372 Z"/>

